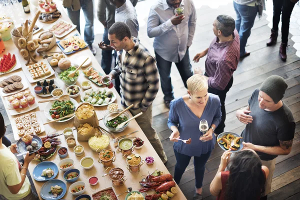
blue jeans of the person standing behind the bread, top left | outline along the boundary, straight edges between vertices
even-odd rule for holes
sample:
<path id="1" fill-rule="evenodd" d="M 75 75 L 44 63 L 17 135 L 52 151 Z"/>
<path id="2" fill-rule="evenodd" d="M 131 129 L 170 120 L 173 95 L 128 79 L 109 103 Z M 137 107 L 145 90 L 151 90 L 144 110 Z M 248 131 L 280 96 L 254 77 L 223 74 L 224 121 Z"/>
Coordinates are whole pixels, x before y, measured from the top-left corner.
<path id="1" fill-rule="evenodd" d="M 81 9 L 84 13 L 85 27 L 84 27 L 84 40 L 88 45 L 91 45 L 94 40 L 93 32 L 93 1 L 92 0 L 80 0 Z M 73 11 L 70 7 L 67 7 L 67 13 L 73 24 L 76 25 L 76 29 L 80 33 L 80 9 Z"/>

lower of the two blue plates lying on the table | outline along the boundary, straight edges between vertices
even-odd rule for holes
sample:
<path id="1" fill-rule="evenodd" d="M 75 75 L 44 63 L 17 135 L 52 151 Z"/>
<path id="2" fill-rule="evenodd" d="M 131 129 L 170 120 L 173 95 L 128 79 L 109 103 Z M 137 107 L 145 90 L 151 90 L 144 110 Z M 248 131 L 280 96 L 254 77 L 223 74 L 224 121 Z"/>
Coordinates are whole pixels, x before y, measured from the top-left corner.
<path id="1" fill-rule="evenodd" d="M 52 193 L 49 193 L 49 191 L 51 190 L 51 186 L 55 186 L 58 185 L 62 188 L 62 192 L 59 193 L 56 197 L 53 197 Z M 48 180 L 46 181 L 40 188 L 40 196 L 43 199 L 47 199 L 47 200 L 57 200 L 57 199 L 61 199 L 64 194 L 66 193 L 67 189 L 66 189 L 66 184 L 59 179 L 52 179 L 52 180 Z"/>

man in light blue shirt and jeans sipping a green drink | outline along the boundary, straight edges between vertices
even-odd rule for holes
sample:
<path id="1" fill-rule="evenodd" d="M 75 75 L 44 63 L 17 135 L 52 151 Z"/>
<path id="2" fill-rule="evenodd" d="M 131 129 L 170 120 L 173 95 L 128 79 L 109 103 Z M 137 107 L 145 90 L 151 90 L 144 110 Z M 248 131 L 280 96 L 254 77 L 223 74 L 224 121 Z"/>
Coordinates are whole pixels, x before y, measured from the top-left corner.
<path id="1" fill-rule="evenodd" d="M 175 8 L 182 7 L 178 15 Z M 164 102 L 169 107 L 174 98 L 170 70 L 175 62 L 184 86 L 193 75 L 189 60 L 188 47 L 196 28 L 196 11 L 192 0 L 158 0 L 150 9 L 147 33 L 154 38 L 154 51 Z"/>

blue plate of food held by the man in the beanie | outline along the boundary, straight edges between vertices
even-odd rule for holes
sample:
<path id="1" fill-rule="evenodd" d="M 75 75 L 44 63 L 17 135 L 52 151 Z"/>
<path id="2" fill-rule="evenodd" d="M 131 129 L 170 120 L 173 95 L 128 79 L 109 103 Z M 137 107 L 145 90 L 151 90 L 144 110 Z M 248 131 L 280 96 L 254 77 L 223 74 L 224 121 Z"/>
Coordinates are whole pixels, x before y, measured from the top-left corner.
<path id="1" fill-rule="evenodd" d="M 225 137 L 225 136 L 226 136 L 226 138 L 224 140 L 222 140 L 222 138 Z M 233 148 L 231 148 L 230 152 L 240 151 L 242 149 L 242 147 L 243 147 L 243 144 L 242 144 L 243 139 L 242 139 L 242 137 L 240 135 L 238 135 L 238 134 L 236 134 L 234 132 L 222 132 L 222 133 L 220 133 L 217 136 L 217 143 L 218 143 L 218 145 L 221 147 L 221 149 L 228 150 L 228 149 L 226 149 L 224 147 L 224 145 L 226 144 L 226 141 L 228 140 L 229 142 L 227 141 L 228 142 L 227 145 L 230 146 L 230 143 L 231 143 L 230 137 L 232 137 L 232 139 L 238 140 L 237 142 L 234 142 Z M 236 144 L 239 145 L 239 147 L 235 146 Z M 237 148 L 237 149 L 235 150 L 235 148 Z"/>

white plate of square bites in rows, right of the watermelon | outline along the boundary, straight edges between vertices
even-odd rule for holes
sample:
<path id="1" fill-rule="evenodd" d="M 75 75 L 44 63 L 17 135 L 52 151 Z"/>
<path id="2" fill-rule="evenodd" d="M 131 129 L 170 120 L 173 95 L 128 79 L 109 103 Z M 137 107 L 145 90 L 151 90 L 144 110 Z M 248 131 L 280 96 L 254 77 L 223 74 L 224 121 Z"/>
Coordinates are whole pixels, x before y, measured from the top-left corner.
<path id="1" fill-rule="evenodd" d="M 22 69 L 30 83 L 43 80 L 54 74 L 54 71 L 49 65 L 47 59 L 43 59 L 28 66 L 23 65 Z"/>

